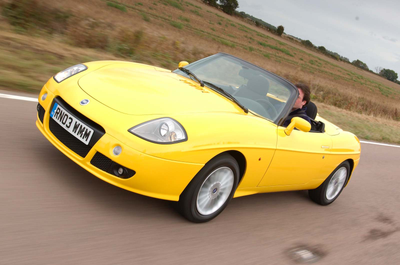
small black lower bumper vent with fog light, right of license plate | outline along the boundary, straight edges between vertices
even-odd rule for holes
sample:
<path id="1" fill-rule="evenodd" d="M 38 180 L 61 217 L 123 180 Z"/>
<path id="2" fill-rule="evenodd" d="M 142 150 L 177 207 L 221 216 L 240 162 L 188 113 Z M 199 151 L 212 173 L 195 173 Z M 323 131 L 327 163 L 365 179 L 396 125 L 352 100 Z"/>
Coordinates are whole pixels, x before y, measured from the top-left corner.
<path id="1" fill-rule="evenodd" d="M 103 155 L 102 153 L 99 153 L 99 152 L 97 152 L 93 156 L 90 163 L 102 171 L 105 171 L 107 173 L 110 173 L 114 176 L 117 176 L 117 177 L 123 178 L 123 179 L 131 178 L 131 177 L 133 177 L 133 175 L 136 174 L 136 172 L 134 170 L 126 168 L 124 166 L 121 166 L 120 164 L 112 161 L 111 159 L 109 159 L 108 157 L 106 157 L 105 155 Z M 123 169 L 122 174 L 118 172 L 119 168 Z"/>

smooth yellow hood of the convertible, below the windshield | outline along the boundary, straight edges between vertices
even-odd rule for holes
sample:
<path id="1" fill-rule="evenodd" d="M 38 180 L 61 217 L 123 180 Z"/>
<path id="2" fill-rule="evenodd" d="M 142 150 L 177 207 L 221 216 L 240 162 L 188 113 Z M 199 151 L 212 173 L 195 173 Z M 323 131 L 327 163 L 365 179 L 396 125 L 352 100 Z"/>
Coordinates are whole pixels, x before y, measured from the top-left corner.
<path id="1" fill-rule="evenodd" d="M 235 103 L 188 78 L 142 64 L 108 65 L 78 83 L 92 98 L 126 114 L 240 111 Z"/>

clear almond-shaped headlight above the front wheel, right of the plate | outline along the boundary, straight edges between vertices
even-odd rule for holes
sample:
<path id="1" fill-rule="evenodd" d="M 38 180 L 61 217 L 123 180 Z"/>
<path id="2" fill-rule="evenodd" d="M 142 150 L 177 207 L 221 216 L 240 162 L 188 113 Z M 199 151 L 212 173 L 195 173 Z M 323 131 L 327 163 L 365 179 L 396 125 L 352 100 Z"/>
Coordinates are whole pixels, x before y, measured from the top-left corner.
<path id="1" fill-rule="evenodd" d="M 172 144 L 187 140 L 185 129 L 174 119 L 161 118 L 139 124 L 128 130 L 150 142 Z"/>

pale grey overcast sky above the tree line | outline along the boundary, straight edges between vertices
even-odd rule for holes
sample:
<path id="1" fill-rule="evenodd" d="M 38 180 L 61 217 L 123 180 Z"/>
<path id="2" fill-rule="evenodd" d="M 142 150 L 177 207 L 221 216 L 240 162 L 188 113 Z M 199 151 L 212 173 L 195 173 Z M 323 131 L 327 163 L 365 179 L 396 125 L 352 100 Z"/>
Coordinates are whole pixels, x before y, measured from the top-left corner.
<path id="1" fill-rule="evenodd" d="M 238 0 L 237 11 L 310 40 L 315 46 L 361 60 L 370 70 L 394 70 L 400 80 L 398 0 Z"/>

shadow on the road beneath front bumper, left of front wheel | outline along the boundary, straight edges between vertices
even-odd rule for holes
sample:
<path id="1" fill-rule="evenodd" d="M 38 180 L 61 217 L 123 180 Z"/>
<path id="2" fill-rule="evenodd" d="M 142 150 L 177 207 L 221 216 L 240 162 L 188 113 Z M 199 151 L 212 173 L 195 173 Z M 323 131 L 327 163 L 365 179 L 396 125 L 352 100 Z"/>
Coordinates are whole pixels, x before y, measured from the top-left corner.
<path id="1" fill-rule="evenodd" d="M 174 203 L 142 196 L 113 186 L 70 160 L 51 145 L 41 147 L 41 167 L 48 174 L 48 181 L 56 181 L 66 192 L 79 197 L 85 202 L 96 204 L 105 210 L 123 214 L 147 215 L 159 217 L 163 215 L 171 219 L 184 220 L 173 210 Z M 174 220 L 174 221 L 176 221 Z"/>

